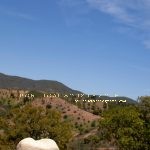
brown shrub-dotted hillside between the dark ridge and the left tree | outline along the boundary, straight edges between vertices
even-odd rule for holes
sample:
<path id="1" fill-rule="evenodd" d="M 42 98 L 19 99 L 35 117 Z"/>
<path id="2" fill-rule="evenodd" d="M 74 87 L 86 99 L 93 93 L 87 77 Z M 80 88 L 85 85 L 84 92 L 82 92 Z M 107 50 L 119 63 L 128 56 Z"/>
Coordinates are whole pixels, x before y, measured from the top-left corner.
<path id="1" fill-rule="evenodd" d="M 27 94 L 29 91 L 0 89 L 0 115 L 8 112 L 11 107 L 22 107 L 28 104 L 32 104 L 35 108 L 41 106 L 44 109 L 54 109 L 60 112 L 62 120 L 73 123 L 75 128 L 74 136 L 90 131 L 92 123 L 101 118 L 59 97 L 44 98 L 38 95 L 33 99 L 27 97 L 18 98 L 18 93 Z M 34 94 L 41 93 L 34 92 Z"/>

